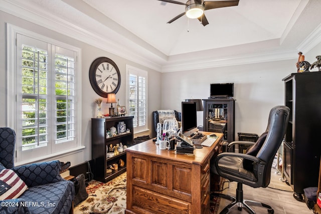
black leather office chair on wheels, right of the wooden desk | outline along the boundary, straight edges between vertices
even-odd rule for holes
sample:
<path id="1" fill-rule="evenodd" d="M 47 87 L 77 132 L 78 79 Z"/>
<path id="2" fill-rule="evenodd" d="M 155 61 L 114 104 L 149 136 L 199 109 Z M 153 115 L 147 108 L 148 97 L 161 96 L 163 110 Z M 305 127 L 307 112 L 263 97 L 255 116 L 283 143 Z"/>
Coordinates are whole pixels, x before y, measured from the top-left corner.
<path id="1" fill-rule="evenodd" d="M 237 182 L 236 197 L 221 193 L 212 193 L 212 196 L 216 195 L 232 200 L 232 202 L 220 212 L 221 214 L 227 213 L 233 206 L 238 206 L 238 210 L 242 210 L 242 207 L 244 207 L 249 213 L 255 214 L 246 202 L 261 205 L 266 207 L 268 212 L 274 213 L 272 207 L 265 203 L 244 200 L 242 185 L 244 183 L 252 187 L 267 187 L 270 183 L 271 166 L 275 153 L 283 140 L 289 112 L 290 109 L 286 106 L 275 106 L 272 108 L 266 131 L 259 137 L 257 142 L 248 149 L 246 154 L 223 152 L 211 160 L 211 173 Z"/>

